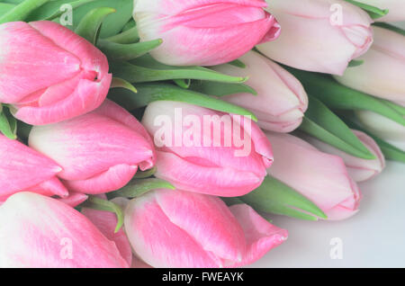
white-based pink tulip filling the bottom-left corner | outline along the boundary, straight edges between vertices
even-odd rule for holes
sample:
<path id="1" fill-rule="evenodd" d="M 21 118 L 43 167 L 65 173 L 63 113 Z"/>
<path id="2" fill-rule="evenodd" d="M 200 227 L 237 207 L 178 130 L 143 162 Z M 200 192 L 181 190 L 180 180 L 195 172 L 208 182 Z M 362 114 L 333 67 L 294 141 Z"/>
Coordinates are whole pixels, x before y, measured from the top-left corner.
<path id="1" fill-rule="evenodd" d="M 115 244 L 67 204 L 19 192 L 0 207 L 0 267 L 129 267 Z"/>

